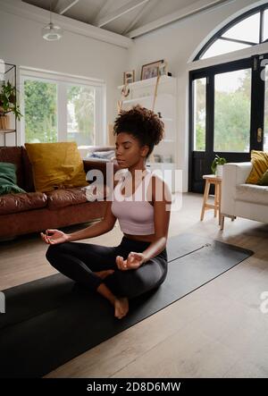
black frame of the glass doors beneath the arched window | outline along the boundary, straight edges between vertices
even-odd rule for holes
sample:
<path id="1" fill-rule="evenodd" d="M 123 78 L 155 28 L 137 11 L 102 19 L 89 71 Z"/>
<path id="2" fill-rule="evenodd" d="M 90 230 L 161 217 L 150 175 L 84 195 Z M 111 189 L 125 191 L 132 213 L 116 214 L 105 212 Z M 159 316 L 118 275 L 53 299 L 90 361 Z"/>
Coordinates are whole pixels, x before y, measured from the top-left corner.
<path id="1" fill-rule="evenodd" d="M 265 64 L 262 61 L 268 55 L 254 55 L 250 58 L 233 61 L 230 63 L 217 64 L 202 69 L 189 72 L 189 144 L 188 144 L 188 190 L 203 192 L 204 181 L 202 179 L 194 181 L 195 169 L 198 167 L 200 174 L 211 173 L 210 165 L 214 156 L 226 156 L 229 162 L 250 161 L 250 151 L 252 149 L 262 150 L 264 140 L 264 97 L 265 81 L 261 79 Z M 233 72 L 240 69 L 251 69 L 251 110 L 250 110 L 250 143 L 248 153 L 221 153 L 214 152 L 214 75 L 224 72 Z M 197 79 L 206 79 L 206 122 L 205 122 L 205 151 L 194 151 L 194 84 Z M 257 130 L 262 129 L 262 142 L 258 142 Z M 197 173 L 197 172 L 196 172 Z"/>

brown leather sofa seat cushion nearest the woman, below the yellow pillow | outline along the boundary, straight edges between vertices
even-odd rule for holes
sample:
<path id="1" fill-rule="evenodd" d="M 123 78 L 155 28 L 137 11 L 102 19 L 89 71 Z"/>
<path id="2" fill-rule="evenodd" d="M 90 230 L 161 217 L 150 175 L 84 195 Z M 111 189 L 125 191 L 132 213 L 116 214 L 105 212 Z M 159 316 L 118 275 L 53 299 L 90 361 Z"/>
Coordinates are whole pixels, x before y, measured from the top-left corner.
<path id="1" fill-rule="evenodd" d="M 49 209 L 79 205 L 88 202 L 86 190 L 81 187 L 73 189 L 60 189 L 46 192 L 47 206 Z"/>

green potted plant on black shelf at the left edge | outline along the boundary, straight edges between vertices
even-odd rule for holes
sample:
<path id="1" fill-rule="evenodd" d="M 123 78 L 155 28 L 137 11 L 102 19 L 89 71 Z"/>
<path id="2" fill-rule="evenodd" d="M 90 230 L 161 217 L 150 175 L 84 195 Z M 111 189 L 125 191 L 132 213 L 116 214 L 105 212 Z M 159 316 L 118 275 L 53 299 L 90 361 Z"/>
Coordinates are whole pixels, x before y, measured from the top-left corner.
<path id="1" fill-rule="evenodd" d="M 21 119 L 20 106 L 16 101 L 17 89 L 10 81 L 5 81 L 0 89 L 0 129 L 6 130 L 9 128 L 9 116 L 7 114 L 13 113 L 19 120 Z"/>

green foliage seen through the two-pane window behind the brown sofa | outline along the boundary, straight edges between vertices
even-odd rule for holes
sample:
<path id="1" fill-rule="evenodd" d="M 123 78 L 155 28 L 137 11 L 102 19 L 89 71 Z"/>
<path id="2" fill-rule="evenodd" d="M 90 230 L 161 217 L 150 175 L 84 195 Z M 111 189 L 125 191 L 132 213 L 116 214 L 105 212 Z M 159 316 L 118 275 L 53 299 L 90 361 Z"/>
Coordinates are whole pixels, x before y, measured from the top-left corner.
<path id="1" fill-rule="evenodd" d="M 66 139 L 94 145 L 95 90 L 68 85 Z M 57 84 L 40 80 L 24 83 L 25 141 L 57 141 Z"/>

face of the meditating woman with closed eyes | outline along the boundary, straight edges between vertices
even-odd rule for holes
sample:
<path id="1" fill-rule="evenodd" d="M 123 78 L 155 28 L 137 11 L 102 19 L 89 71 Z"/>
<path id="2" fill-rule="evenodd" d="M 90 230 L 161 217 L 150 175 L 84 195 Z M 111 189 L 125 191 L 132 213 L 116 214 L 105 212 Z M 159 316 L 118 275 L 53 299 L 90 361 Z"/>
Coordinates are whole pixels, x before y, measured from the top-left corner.
<path id="1" fill-rule="evenodd" d="M 144 163 L 148 147 L 140 147 L 138 139 L 128 132 L 120 132 L 116 137 L 115 154 L 118 164 L 122 168 Z"/>

